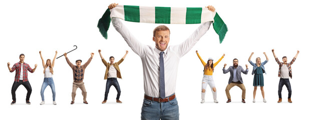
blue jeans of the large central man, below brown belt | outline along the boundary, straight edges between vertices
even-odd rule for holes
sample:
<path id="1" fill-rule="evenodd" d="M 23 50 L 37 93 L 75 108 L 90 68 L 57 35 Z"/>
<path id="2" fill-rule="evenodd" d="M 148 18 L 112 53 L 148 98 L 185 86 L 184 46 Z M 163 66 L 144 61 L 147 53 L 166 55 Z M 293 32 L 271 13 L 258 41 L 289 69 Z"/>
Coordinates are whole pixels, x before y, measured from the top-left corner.
<path id="1" fill-rule="evenodd" d="M 179 119 L 179 106 L 176 97 L 167 102 L 158 102 L 144 99 L 141 111 L 141 119 Z"/>

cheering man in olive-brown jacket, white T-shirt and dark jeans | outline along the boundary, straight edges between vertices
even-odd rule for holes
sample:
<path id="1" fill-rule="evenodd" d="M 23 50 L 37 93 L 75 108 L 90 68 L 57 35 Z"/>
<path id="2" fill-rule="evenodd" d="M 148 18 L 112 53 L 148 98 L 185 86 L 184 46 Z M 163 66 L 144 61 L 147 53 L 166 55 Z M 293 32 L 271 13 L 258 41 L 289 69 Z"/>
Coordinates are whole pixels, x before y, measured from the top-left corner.
<path id="1" fill-rule="evenodd" d="M 119 100 L 120 95 L 121 95 L 121 88 L 120 88 L 120 85 L 117 81 L 117 77 L 122 78 L 122 76 L 121 76 L 121 71 L 120 71 L 120 68 L 118 65 L 123 62 L 126 55 L 128 54 L 128 50 L 126 50 L 126 54 L 123 56 L 123 58 L 121 60 L 119 60 L 118 62 L 115 62 L 115 63 L 114 63 L 114 57 L 113 56 L 110 56 L 110 63 L 109 63 L 101 55 L 101 49 L 99 49 L 98 52 L 100 54 L 100 57 L 101 57 L 103 64 L 107 67 L 106 73 L 104 75 L 104 79 L 107 79 L 106 92 L 105 92 L 104 100 L 102 101 L 102 103 L 107 102 L 109 90 L 110 90 L 110 87 L 112 85 L 117 90 L 116 102 L 122 103 L 122 101 Z"/>

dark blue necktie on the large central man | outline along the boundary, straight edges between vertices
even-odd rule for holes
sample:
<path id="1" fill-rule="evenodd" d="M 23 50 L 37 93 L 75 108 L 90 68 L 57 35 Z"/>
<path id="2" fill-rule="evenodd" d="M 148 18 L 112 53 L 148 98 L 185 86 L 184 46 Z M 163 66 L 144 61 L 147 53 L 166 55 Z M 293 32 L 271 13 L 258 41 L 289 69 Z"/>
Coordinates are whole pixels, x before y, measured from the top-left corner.
<path id="1" fill-rule="evenodd" d="M 160 97 L 165 98 L 165 66 L 164 66 L 164 57 L 163 57 L 164 52 L 161 51 L 159 53 L 159 71 L 160 71 L 160 80 L 159 80 L 159 92 L 160 92 Z"/>

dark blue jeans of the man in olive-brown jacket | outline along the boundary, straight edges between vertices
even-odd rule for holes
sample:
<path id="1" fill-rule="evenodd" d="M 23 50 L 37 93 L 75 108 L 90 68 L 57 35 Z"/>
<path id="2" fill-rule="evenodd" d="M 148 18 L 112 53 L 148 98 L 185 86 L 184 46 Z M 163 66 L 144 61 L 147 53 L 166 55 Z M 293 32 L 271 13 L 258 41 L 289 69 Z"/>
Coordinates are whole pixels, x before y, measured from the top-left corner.
<path id="1" fill-rule="evenodd" d="M 120 84 L 118 84 L 117 78 L 113 77 L 113 78 L 108 78 L 107 79 L 107 84 L 106 84 L 106 92 L 104 94 L 104 99 L 108 99 L 108 94 L 110 91 L 110 87 L 114 86 L 117 90 L 117 96 L 116 99 L 120 98 L 121 95 L 121 88 L 120 88 Z"/>

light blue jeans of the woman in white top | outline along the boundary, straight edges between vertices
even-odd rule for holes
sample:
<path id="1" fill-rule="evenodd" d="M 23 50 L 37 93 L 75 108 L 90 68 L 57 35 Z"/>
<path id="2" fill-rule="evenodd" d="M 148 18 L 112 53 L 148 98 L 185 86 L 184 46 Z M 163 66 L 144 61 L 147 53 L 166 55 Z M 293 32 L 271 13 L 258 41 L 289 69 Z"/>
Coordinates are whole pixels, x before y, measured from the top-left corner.
<path id="1" fill-rule="evenodd" d="M 55 101 L 55 97 L 56 97 L 56 91 L 55 91 L 55 84 L 54 84 L 54 80 L 53 77 L 44 77 L 44 81 L 41 87 L 41 97 L 42 97 L 42 101 L 44 101 L 44 90 L 45 88 L 50 85 L 50 87 L 52 88 L 52 93 L 53 93 L 53 101 Z"/>

